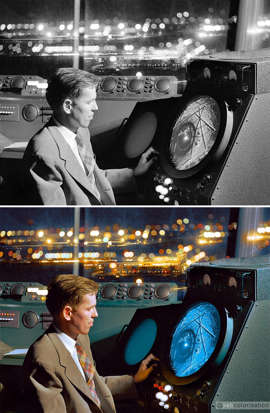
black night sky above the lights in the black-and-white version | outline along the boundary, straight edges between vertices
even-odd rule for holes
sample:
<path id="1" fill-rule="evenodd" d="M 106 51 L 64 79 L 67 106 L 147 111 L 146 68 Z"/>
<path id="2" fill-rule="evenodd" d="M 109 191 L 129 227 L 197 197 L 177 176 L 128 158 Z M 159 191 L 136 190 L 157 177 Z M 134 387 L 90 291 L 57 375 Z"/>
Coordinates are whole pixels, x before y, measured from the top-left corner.
<path id="1" fill-rule="evenodd" d="M 10 3 L 3 3 L 1 6 L 1 23 L 37 23 L 49 22 L 51 20 L 72 20 L 73 18 L 73 0 L 48 0 L 38 2 L 37 0 L 13 0 Z M 144 21 L 147 18 L 164 18 L 171 19 L 178 12 L 189 12 L 194 17 L 206 17 L 209 14 L 209 7 L 213 8 L 213 15 L 220 15 L 224 9 L 226 15 L 232 8 L 237 13 L 239 1 L 236 0 L 231 5 L 228 0 L 103 0 L 101 2 L 91 0 L 81 0 L 82 14 L 83 9 L 89 19 L 113 19 L 118 17 L 128 21 Z M 27 5 L 27 7 L 26 7 Z M 233 6 L 233 7 L 232 7 Z M 22 21 L 25 20 L 25 21 Z"/>

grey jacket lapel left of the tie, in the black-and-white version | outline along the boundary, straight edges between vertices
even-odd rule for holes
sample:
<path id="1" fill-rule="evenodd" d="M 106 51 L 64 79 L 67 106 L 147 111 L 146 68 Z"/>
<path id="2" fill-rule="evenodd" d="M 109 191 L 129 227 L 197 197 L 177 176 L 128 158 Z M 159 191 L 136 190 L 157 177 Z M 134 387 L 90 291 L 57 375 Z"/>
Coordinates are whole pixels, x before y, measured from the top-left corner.
<path id="1" fill-rule="evenodd" d="M 101 205 L 101 203 L 98 201 L 98 199 L 94 195 L 93 189 L 87 179 L 86 174 L 82 171 L 81 165 L 79 164 L 78 159 L 74 155 L 71 147 L 66 142 L 62 133 L 60 133 L 59 129 L 55 125 L 52 118 L 48 122 L 47 128 L 56 142 L 56 145 L 59 150 L 60 158 L 65 161 L 65 169 L 67 170 L 67 172 L 72 176 L 72 178 L 74 178 L 84 188 L 86 188 L 89 192 L 91 192 L 91 194 L 95 197 L 97 201 L 96 204 Z"/>

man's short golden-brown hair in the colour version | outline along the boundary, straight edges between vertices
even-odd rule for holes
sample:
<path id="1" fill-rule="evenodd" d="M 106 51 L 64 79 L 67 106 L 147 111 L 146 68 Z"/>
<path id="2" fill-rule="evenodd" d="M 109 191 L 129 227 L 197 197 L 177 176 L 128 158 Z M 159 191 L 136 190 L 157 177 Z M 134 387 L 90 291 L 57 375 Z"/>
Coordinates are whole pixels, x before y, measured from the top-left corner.
<path id="1" fill-rule="evenodd" d="M 98 283 L 88 278 L 73 274 L 57 275 L 48 285 L 47 308 L 52 316 L 57 316 L 66 305 L 76 311 L 84 296 L 96 295 L 98 289 Z"/>

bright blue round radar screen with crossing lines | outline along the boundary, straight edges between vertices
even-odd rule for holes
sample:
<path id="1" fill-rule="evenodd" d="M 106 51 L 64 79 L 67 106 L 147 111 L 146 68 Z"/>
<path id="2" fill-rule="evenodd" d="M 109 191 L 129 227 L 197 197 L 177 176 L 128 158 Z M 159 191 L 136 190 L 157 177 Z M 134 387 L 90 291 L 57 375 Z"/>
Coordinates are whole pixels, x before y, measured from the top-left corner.
<path id="1" fill-rule="evenodd" d="M 170 344 L 170 366 L 177 377 L 186 377 L 208 361 L 220 335 L 220 316 L 210 303 L 192 307 L 176 326 Z"/>

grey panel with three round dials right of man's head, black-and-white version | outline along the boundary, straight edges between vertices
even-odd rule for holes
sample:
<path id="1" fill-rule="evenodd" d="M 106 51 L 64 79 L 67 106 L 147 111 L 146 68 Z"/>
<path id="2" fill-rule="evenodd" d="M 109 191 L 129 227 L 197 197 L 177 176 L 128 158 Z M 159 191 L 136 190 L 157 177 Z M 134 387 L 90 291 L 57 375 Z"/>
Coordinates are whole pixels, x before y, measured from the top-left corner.
<path id="1" fill-rule="evenodd" d="M 98 97 L 161 98 L 177 96 L 179 91 L 175 76 L 100 76 Z"/>

